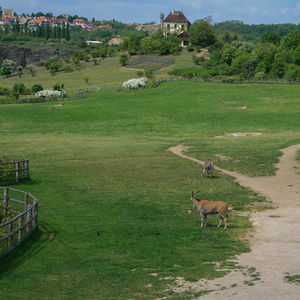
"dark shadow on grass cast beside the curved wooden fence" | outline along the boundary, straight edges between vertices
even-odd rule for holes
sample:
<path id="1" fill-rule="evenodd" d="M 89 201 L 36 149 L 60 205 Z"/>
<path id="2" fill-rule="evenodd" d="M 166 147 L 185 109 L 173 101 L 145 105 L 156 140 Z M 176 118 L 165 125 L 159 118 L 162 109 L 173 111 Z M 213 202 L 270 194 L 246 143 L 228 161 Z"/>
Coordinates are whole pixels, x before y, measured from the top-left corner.
<path id="1" fill-rule="evenodd" d="M 40 222 L 27 239 L 0 258 L 0 279 L 45 249 L 56 236 L 57 231 L 52 226 Z"/>

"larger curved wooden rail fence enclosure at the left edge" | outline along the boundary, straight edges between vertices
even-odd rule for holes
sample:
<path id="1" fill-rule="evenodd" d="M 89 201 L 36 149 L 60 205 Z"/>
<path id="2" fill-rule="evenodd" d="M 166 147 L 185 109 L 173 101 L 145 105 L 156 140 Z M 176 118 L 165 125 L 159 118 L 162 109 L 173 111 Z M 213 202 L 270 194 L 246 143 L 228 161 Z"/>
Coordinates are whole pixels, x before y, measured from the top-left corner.
<path id="1" fill-rule="evenodd" d="M 8 187 L 3 190 L 0 224 L 0 257 L 22 243 L 38 226 L 38 199 L 29 193 Z M 22 196 L 20 196 L 22 195 Z M 22 200 L 16 198 L 22 197 Z M 19 208 L 18 210 L 16 210 Z M 1 221 L 2 222 L 2 221 Z"/>

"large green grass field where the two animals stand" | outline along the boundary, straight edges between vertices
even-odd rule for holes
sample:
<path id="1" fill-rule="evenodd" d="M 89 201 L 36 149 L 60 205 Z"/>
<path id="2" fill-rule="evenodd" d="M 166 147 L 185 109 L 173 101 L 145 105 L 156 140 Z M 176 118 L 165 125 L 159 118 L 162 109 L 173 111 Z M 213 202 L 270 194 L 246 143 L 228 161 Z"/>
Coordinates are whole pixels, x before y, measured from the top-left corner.
<path id="1" fill-rule="evenodd" d="M 0 107 L 1 155 L 30 159 L 31 179 L 9 186 L 40 200 L 38 231 L 1 259 L 1 299 L 189 299 L 166 288 L 223 275 L 216 262 L 249 251 L 239 212 L 265 200 L 222 173 L 203 178 L 167 149 L 184 144 L 263 176 L 279 149 L 300 142 L 298 85 L 172 82 L 51 108 Z M 261 135 L 230 135 L 245 132 Z M 229 203 L 226 231 L 211 215 L 200 228 L 189 201 L 198 190 Z"/>

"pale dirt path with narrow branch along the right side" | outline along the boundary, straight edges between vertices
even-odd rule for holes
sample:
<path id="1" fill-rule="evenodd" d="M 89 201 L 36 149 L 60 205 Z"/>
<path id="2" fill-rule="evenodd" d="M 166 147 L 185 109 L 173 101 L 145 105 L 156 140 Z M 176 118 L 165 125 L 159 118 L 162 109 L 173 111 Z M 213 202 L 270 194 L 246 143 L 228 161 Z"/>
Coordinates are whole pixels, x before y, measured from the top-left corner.
<path id="1" fill-rule="evenodd" d="M 183 152 L 187 149 L 179 145 L 169 150 L 203 164 L 186 156 Z M 250 239 L 252 251 L 235 260 L 241 269 L 212 281 L 195 283 L 177 278 L 176 285 L 171 287 L 173 291 L 212 291 L 200 297 L 201 300 L 300 299 L 300 285 L 285 280 L 286 276 L 300 275 L 300 176 L 296 172 L 299 164 L 295 161 L 299 150 L 300 144 L 281 150 L 283 155 L 273 177 L 251 178 L 215 167 L 235 177 L 240 185 L 263 194 L 277 208 L 251 215 L 256 230 Z"/>

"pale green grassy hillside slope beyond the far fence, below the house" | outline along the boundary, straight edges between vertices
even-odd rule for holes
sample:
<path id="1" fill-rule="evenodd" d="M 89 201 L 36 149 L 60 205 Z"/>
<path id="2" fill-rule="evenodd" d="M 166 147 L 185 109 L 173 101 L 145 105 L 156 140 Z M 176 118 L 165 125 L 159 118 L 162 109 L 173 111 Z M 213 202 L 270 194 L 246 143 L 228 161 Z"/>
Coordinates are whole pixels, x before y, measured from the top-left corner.
<path id="1" fill-rule="evenodd" d="M 159 70 L 154 75 L 159 77 L 167 76 L 167 73 L 173 68 L 181 66 L 193 65 L 192 54 L 183 51 L 181 55 L 174 56 L 175 65 Z M 98 65 L 95 65 L 92 60 L 90 62 L 81 61 L 79 67 L 76 68 L 72 63 L 73 72 L 57 72 L 54 76 L 50 75 L 50 71 L 45 67 L 37 66 L 35 68 L 35 76 L 24 70 L 21 78 L 14 73 L 14 76 L 0 79 L 0 87 L 12 88 L 15 83 L 24 83 L 27 88 L 31 88 L 34 84 L 41 84 L 44 89 L 51 89 L 54 84 L 64 84 L 67 93 L 72 94 L 75 89 L 85 87 L 98 86 L 121 86 L 124 81 L 131 78 L 137 78 L 137 70 L 125 68 L 120 64 L 118 54 L 114 57 L 101 59 Z M 86 84 L 86 78 L 88 82 Z"/>

